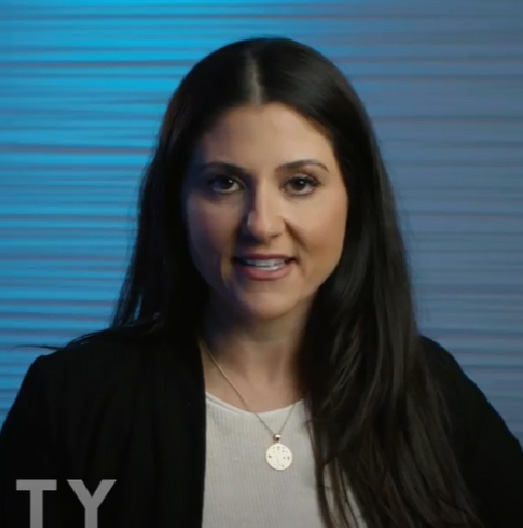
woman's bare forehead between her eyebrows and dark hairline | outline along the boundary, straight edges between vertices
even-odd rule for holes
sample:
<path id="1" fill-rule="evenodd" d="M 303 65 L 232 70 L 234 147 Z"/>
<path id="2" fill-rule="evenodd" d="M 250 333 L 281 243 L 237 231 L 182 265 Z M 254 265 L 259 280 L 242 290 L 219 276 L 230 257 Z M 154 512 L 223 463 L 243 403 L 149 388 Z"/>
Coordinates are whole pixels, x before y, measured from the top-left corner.
<path id="1" fill-rule="evenodd" d="M 335 163 L 331 142 L 321 128 L 280 103 L 228 110 L 202 135 L 196 157 L 227 158 L 243 163 L 285 163 L 318 157 Z"/>

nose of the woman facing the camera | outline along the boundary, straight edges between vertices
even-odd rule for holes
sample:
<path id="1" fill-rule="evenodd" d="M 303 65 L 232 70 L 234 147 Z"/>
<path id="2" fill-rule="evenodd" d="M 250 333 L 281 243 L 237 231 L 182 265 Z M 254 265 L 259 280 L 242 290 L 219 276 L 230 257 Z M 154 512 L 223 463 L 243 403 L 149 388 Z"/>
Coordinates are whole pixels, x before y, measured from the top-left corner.
<path id="1" fill-rule="evenodd" d="M 244 234 L 263 242 L 282 233 L 284 221 L 278 198 L 268 186 L 252 190 L 243 218 Z"/>

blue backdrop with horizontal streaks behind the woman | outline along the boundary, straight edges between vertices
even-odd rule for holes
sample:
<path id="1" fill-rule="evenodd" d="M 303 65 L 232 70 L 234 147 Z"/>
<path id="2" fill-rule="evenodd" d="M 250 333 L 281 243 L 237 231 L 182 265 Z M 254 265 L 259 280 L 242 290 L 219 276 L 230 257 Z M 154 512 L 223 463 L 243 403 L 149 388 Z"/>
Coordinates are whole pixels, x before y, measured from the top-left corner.
<path id="1" fill-rule="evenodd" d="M 317 47 L 397 190 L 422 328 L 523 440 L 523 3 L 0 1 L 0 423 L 42 353 L 105 326 L 165 104 L 214 48 Z"/>

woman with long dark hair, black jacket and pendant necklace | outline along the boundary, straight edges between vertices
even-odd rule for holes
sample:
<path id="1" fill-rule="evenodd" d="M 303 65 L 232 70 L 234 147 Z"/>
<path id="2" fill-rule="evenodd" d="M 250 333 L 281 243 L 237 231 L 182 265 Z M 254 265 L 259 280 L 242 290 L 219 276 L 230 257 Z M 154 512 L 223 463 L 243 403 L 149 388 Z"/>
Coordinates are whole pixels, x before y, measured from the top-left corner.
<path id="1" fill-rule="evenodd" d="M 2 526 L 17 479 L 56 480 L 53 528 L 523 525 L 519 442 L 418 335 L 364 108 L 288 39 L 182 80 L 112 325 L 31 365 L 0 464 Z"/>

